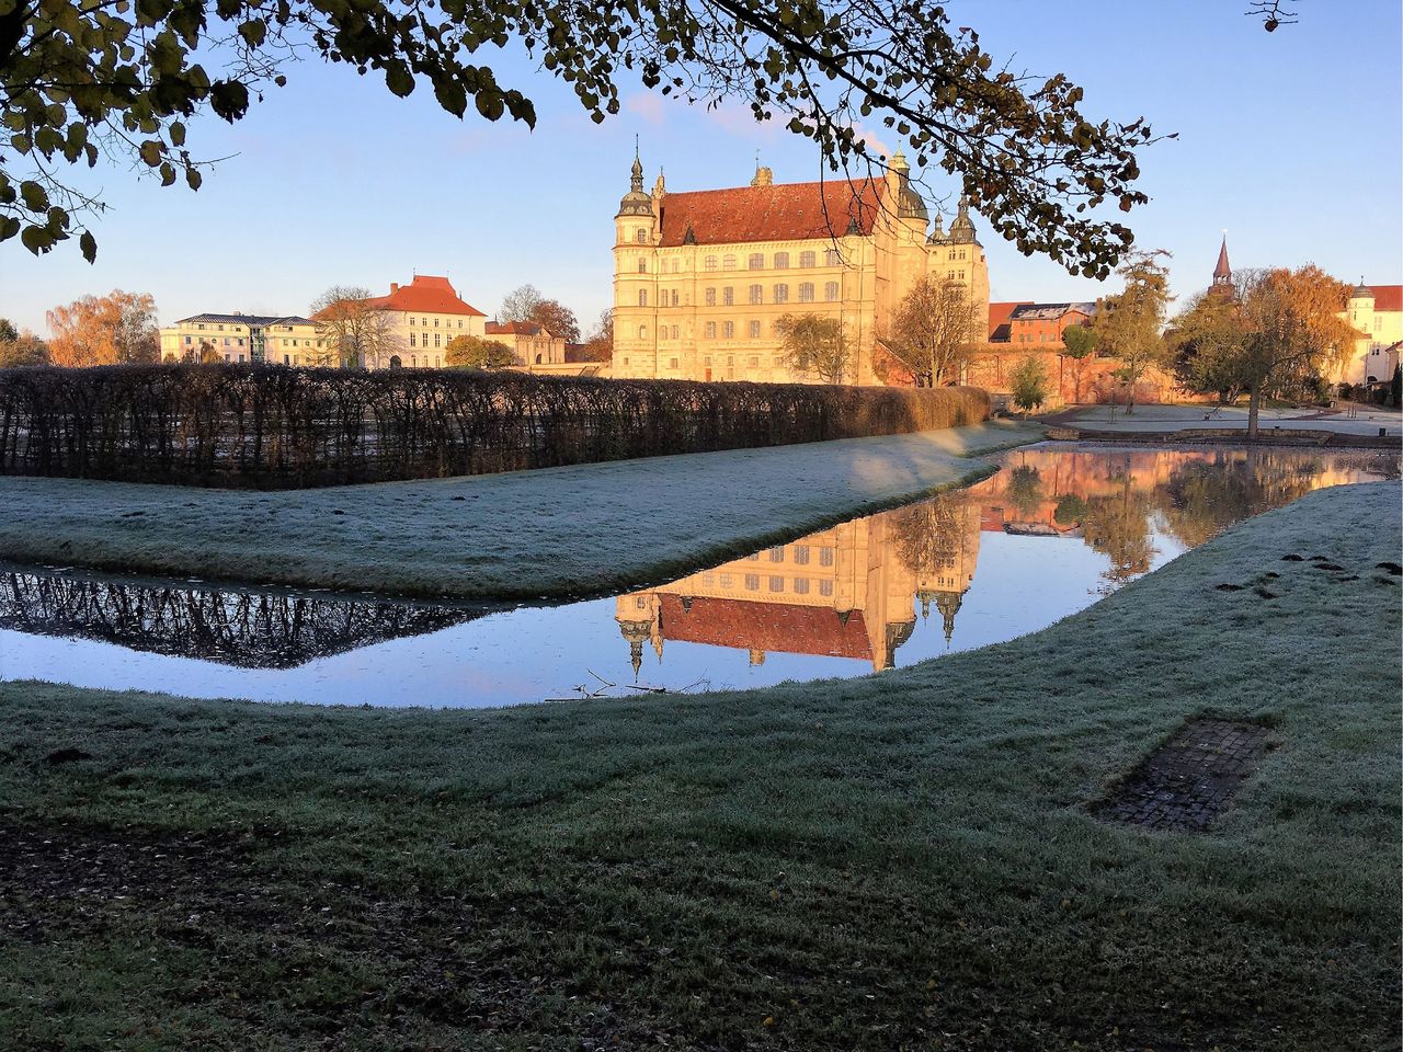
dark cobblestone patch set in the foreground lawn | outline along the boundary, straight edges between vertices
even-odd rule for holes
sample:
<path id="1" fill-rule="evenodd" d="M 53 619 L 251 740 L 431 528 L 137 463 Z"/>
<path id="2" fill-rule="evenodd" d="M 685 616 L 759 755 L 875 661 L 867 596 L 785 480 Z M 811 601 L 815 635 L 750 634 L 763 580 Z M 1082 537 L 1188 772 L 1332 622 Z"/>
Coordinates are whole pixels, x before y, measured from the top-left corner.
<path id="1" fill-rule="evenodd" d="M 1201 832 L 1228 808 L 1267 752 L 1267 728 L 1195 720 L 1152 752 L 1106 800 L 1099 818 Z"/>

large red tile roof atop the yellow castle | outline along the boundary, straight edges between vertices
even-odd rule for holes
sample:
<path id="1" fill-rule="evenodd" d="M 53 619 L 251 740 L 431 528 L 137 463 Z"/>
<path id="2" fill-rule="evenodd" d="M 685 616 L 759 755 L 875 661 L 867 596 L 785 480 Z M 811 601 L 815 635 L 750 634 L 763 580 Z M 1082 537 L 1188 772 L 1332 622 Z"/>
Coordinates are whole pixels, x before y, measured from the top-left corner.
<path id="1" fill-rule="evenodd" d="M 680 245 L 689 230 L 696 244 L 831 238 L 853 224 L 857 233 L 871 234 L 885 194 L 887 185 L 877 180 L 668 194 L 662 198 L 659 244 Z"/>

